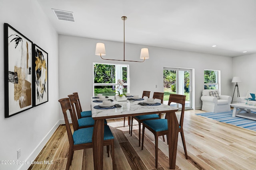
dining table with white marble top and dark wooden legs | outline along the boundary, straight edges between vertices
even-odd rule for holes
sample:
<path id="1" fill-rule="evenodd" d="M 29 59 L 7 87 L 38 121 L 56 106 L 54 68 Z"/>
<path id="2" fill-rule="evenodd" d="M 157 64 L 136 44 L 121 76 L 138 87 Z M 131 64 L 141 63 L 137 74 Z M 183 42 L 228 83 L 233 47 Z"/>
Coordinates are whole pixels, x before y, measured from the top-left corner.
<path id="1" fill-rule="evenodd" d="M 141 106 L 138 104 L 145 100 L 127 100 L 125 102 L 117 102 L 114 99 L 114 96 L 109 96 L 108 99 L 112 99 L 112 103 L 119 104 L 122 107 L 112 109 L 95 109 L 94 106 L 101 103 L 95 102 L 94 100 L 97 99 L 91 98 L 92 118 L 94 119 L 94 130 L 92 135 L 94 170 L 103 170 L 104 119 L 157 113 L 166 113 L 166 119 L 168 119 L 168 141 L 170 141 L 168 145 L 169 168 L 175 169 L 179 130 L 179 123 L 175 112 L 178 111 L 178 108 L 164 104 L 160 104 L 158 106 Z"/>

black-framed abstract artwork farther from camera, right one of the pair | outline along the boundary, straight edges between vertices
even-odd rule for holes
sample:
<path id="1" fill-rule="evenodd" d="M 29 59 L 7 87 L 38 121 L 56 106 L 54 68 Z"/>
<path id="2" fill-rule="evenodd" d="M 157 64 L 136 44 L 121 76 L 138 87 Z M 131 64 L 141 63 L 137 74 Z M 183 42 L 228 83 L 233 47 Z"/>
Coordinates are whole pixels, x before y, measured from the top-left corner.
<path id="1" fill-rule="evenodd" d="M 34 91 L 33 106 L 48 102 L 48 53 L 38 45 L 33 45 Z"/>

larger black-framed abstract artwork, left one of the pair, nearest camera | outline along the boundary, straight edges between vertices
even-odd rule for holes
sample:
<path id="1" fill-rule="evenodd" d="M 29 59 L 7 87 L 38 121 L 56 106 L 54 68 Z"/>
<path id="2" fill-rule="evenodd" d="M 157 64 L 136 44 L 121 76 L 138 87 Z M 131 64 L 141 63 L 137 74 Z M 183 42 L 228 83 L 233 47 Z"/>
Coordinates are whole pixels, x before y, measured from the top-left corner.
<path id="1" fill-rule="evenodd" d="M 4 23 L 5 117 L 32 108 L 33 42 Z"/>

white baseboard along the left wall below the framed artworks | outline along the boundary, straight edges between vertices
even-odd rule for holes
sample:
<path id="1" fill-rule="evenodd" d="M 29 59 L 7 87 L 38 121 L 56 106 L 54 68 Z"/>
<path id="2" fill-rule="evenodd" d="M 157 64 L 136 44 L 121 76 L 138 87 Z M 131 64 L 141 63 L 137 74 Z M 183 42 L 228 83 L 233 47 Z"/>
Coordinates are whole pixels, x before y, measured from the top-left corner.
<path id="1" fill-rule="evenodd" d="M 64 121 L 64 119 L 63 119 Z M 48 134 L 42 139 L 42 141 L 37 145 L 37 147 L 33 150 L 33 152 L 28 156 L 28 158 L 25 161 L 31 161 L 35 160 L 36 156 L 41 152 L 41 150 L 44 148 L 45 144 L 48 142 L 50 137 L 52 137 L 52 134 L 56 131 L 56 129 L 59 127 L 60 124 L 63 124 L 61 120 L 59 120 L 52 129 L 48 132 Z M 64 122 L 65 124 L 65 122 Z M 30 167 L 30 164 L 22 164 L 18 170 L 28 170 Z"/>

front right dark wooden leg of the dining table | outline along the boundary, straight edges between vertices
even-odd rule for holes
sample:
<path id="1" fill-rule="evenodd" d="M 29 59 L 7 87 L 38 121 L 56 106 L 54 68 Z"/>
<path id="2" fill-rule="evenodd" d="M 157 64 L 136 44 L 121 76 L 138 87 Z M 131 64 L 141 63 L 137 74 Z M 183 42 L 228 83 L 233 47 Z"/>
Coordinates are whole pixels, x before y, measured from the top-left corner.
<path id="1" fill-rule="evenodd" d="M 168 129 L 170 129 L 170 131 L 168 131 L 169 166 L 170 166 L 170 169 L 175 169 L 179 123 L 178 123 L 176 114 L 173 111 L 166 113 L 166 118 L 168 119 Z"/>

